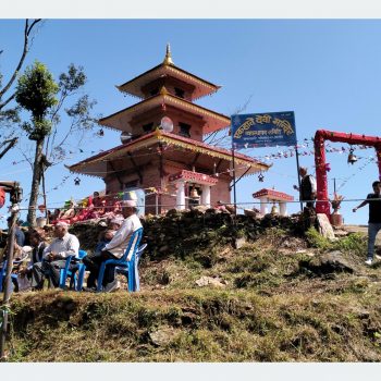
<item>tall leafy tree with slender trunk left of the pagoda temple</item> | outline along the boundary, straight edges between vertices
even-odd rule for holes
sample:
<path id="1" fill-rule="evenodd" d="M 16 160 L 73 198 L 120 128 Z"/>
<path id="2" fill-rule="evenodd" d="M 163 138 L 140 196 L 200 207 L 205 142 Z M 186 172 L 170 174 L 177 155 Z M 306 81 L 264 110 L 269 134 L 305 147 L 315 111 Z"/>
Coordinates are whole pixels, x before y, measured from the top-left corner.
<path id="1" fill-rule="evenodd" d="M 33 225 L 36 222 L 41 176 L 50 165 L 65 158 L 66 151 L 63 147 L 66 139 L 74 136 L 79 145 L 85 134 L 96 124 L 96 120 L 90 115 L 96 102 L 91 101 L 88 95 L 79 94 L 86 81 L 83 67 L 71 64 L 67 72 L 62 73 L 56 83 L 40 62 L 27 67 L 19 79 L 15 99 L 32 114 L 30 122 L 24 122 L 22 128 L 30 140 L 36 142 L 34 161 L 29 161 L 33 180 L 27 216 L 27 221 Z M 67 101 L 73 97 L 74 102 L 67 106 Z M 67 130 L 60 128 L 62 116 L 70 120 Z"/>

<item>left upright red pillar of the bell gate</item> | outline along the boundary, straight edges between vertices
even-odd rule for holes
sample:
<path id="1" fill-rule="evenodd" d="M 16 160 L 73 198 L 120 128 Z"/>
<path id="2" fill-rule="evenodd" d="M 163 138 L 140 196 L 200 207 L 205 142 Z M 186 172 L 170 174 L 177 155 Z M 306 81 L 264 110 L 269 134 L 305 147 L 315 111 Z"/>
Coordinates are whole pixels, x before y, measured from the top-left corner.
<path id="1" fill-rule="evenodd" d="M 328 198 L 328 181 L 325 169 L 325 148 L 324 137 L 320 131 L 315 135 L 315 167 L 317 182 L 317 204 L 316 212 L 325 213 L 330 218 L 330 202 Z"/>

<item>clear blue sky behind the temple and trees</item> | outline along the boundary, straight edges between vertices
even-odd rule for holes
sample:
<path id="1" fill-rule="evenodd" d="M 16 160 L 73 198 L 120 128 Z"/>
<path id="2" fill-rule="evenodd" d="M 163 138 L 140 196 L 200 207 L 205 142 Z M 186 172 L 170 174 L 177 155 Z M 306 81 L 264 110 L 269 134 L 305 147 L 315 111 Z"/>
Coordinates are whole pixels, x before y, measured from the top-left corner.
<path id="1" fill-rule="evenodd" d="M 14 66 L 22 47 L 22 20 L 0 21 L 0 71 L 5 75 Z M 108 115 L 136 102 L 123 96 L 114 85 L 160 63 L 167 42 L 171 44 L 174 63 L 212 83 L 220 91 L 198 101 L 199 105 L 226 115 L 245 105 L 244 113 L 294 111 L 300 145 L 316 130 L 324 128 L 366 135 L 381 135 L 381 37 L 380 20 L 47 20 L 34 39 L 27 64 L 35 59 L 46 63 L 57 77 L 73 62 L 85 67 L 87 93 L 98 101 L 96 113 Z M 64 161 L 77 162 L 90 151 L 111 148 L 120 143 L 118 132 L 106 131 L 102 138 L 93 137 L 83 155 Z M 28 142 L 21 144 L 26 149 Z M 345 149 L 345 144 L 331 144 Z M 286 147 L 242 150 L 260 156 L 284 151 Z M 378 179 L 372 149 L 356 150 L 359 161 L 346 162 L 347 152 L 328 153 L 330 193 L 336 177 L 339 193 L 346 199 L 364 198 Z M 0 161 L 1 179 L 21 181 L 29 193 L 30 171 L 19 150 Z M 300 157 L 300 164 L 314 169 L 314 156 Z M 102 189 L 101 180 L 79 176 L 75 186 L 63 163 L 47 174 L 49 206 L 60 206 L 70 196 L 82 198 Z M 251 194 L 272 187 L 297 197 L 292 185 L 297 183 L 295 158 L 273 160 L 265 183 L 256 175 L 237 184 L 238 202 L 254 201 Z M 356 214 L 359 202 L 343 202 L 346 223 L 366 223 L 367 208 Z M 27 204 L 23 204 L 27 206 Z M 297 211 L 298 205 L 288 207 Z M 0 213 L 5 214 L 3 208 Z M 0 222 L 1 223 L 1 222 Z"/>

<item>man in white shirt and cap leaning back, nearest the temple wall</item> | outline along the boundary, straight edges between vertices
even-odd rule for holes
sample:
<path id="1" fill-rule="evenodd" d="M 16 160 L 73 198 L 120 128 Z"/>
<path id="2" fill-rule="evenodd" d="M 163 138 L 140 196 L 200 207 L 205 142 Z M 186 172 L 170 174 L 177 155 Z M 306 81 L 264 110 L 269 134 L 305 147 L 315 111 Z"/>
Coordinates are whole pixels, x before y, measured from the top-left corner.
<path id="1" fill-rule="evenodd" d="M 116 231 L 113 238 L 103 247 L 99 256 L 85 257 L 83 262 L 90 271 L 87 279 L 87 288 L 96 288 L 96 280 L 98 279 L 99 269 L 102 262 L 108 259 L 120 259 L 123 257 L 130 242 L 131 235 L 142 228 L 139 218 L 136 216 L 136 201 L 125 200 L 122 202 L 122 212 L 125 217 L 121 228 Z M 115 279 L 115 268 L 107 266 L 103 276 L 103 287 L 106 292 L 112 292 L 119 288 Z"/>

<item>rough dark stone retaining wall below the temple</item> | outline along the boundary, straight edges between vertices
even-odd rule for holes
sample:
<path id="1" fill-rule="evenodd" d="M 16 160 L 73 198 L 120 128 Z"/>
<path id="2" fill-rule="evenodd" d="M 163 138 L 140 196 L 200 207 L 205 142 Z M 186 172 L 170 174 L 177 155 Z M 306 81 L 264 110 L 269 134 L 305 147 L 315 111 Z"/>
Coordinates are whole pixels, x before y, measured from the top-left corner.
<path id="1" fill-rule="evenodd" d="M 148 244 L 151 259 L 168 255 L 185 256 L 196 247 L 210 244 L 234 244 L 237 238 L 256 239 L 268 228 L 282 228 L 293 235 L 304 231 L 300 214 L 281 217 L 266 214 L 259 219 L 253 216 L 221 212 L 217 209 L 187 211 L 170 210 L 167 216 L 148 216 L 142 220 L 143 243 Z M 75 224 L 71 232 L 76 234 L 81 247 L 93 250 L 98 235 L 106 228 L 99 224 Z"/>

